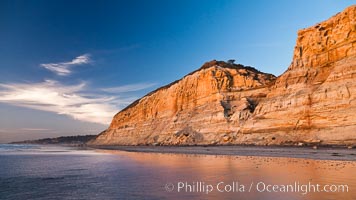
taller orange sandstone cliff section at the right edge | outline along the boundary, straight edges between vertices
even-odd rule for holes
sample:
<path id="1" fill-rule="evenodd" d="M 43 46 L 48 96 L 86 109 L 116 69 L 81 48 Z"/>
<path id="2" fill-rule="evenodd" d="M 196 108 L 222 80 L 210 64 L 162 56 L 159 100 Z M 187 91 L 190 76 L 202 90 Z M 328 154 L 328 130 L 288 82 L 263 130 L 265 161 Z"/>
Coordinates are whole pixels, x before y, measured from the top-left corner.
<path id="1" fill-rule="evenodd" d="M 243 132 L 276 144 L 355 143 L 355 42 L 356 6 L 299 31 L 291 65 Z"/>

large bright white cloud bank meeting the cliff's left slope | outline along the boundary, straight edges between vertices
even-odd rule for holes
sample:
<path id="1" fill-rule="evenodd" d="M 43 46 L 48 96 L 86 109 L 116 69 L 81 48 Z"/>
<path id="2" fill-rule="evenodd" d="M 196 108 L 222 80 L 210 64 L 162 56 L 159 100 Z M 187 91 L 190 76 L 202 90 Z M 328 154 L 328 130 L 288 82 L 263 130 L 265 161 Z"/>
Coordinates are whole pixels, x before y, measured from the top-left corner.
<path id="1" fill-rule="evenodd" d="M 0 102 L 100 124 L 109 124 L 119 106 L 127 103 L 110 96 L 87 95 L 85 86 L 85 83 L 63 85 L 53 80 L 0 84 Z"/>

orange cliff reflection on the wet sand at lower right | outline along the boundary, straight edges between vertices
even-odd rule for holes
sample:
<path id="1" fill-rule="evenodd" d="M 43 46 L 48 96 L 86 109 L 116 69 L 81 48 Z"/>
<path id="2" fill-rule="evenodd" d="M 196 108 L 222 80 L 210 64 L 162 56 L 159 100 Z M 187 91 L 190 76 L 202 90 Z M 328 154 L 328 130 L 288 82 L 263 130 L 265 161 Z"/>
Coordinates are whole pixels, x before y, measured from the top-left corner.
<path id="1" fill-rule="evenodd" d="M 356 198 L 356 162 L 312 160 L 300 158 L 252 157 L 252 156 L 214 156 L 194 154 L 138 153 L 115 150 L 98 150 L 120 155 L 135 165 L 157 170 L 155 179 L 163 180 L 175 186 L 166 195 L 172 199 L 197 197 L 209 199 L 355 199 Z M 190 185 L 178 192 L 177 184 Z M 215 190 L 209 194 L 189 189 L 196 185 L 224 185 L 238 183 L 251 186 L 250 192 L 221 192 Z M 270 185 L 347 185 L 348 192 L 259 192 L 256 184 Z M 260 184 L 261 186 L 261 184 Z M 261 189 L 261 187 L 260 187 Z M 162 186 L 164 191 L 164 186 Z M 306 193 L 306 194 L 302 194 Z"/>

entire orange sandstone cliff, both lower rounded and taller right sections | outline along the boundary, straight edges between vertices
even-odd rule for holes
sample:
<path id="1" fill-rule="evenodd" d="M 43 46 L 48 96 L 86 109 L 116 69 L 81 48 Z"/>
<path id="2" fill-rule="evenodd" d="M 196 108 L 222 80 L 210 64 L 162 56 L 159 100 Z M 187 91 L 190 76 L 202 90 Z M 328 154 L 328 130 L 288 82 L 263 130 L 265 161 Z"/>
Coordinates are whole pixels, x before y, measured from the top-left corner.
<path id="1" fill-rule="evenodd" d="M 356 6 L 298 32 L 280 77 L 211 61 L 119 112 L 96 145 L 355 144 Z"/>

